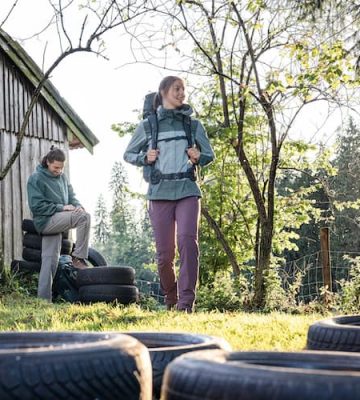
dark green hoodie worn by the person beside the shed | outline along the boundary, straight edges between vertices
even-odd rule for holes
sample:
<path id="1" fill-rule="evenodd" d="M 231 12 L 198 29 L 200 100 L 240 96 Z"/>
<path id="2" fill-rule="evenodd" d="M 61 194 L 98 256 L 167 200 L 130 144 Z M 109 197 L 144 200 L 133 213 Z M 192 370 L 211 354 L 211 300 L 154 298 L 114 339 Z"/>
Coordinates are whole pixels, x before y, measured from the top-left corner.
<path id="1" fill-rule="evenodd" d="M 52 215 L 63 211 L 65 205 L 81 206 L 64 174 L 53 175 L 41 164 L 27 183 L 28 203 L 36 230 L 41 233 Z"/>

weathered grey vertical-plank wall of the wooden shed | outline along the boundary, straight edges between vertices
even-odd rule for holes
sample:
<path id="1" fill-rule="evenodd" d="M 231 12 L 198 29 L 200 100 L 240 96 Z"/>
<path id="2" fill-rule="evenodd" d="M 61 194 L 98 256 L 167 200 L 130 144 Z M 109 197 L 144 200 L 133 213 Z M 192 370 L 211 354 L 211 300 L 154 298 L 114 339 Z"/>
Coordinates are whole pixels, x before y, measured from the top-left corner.
<path id="1" fill-rule="evenodd" d="M 15 149 L 31 93 L 32 86 L 0 50 L 1 168 Z M 0 269 L 2 265 L 10 265 L 13 259 L 21 259 L 21 223 L 23 218 L 30 218 L 26 183 L 52 144 L 68 155 L 66 125 L 43 99 L 39 99 L 26 128 L 20 156 L 0 182 Z"/>

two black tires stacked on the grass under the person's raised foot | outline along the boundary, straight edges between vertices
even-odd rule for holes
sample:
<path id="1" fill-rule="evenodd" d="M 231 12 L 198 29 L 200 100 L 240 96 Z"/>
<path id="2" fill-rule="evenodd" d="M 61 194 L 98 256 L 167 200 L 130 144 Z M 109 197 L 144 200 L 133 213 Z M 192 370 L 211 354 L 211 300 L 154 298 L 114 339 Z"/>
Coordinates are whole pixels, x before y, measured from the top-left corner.
<path id="1" fill-rule="evenodd" d="M 131 267 L 97 267 L 78 271 L 77 285 L 83 303 L 118 302 L 130 304 L 138 301 L 135 270 Z"/>

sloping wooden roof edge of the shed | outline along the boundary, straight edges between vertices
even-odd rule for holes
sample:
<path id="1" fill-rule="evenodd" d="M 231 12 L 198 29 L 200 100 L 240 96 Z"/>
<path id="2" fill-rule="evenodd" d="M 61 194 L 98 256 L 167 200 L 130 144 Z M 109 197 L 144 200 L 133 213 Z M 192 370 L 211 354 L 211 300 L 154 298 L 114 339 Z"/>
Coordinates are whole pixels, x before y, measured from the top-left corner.
<path id="1" fill-rule="evenodd" d="M 24 48 L 2 29 L 0 29 L 0 48 L 3 49 L 19 70 L 36 87 L 44 76 L 43 72 Z M 41 95 L 75 136 L 69 138 L 70 148 L 86 147 L 92 153 L 93 147 L 99 143 L 99 140 L 70 104 L 61 97 L 50 80 L 45 82 L 41 90 Z"/>

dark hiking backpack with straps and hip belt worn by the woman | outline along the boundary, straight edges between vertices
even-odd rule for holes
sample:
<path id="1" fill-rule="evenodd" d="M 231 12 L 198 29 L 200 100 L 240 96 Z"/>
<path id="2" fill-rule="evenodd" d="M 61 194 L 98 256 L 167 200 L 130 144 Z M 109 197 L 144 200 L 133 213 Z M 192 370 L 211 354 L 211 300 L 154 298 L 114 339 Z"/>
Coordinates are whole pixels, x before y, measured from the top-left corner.
<path id="1" fill-rule="evenodd" d="M 145 96 L 144 106 L 143 106 L 143 119 L 144 119 L 144 129 L 146 136 L 151 138 L 151 149 L 157 149 L 158 134 L 159 134 L 159 121 L 157 119 L 156 110 L 154 109 L 154 100 L 156 92 L 149 93 Z M 183 127 L 188 142 L 188 148 L 194 146 L 193 136 L 195 137 L 195 132 L 197 129 L 198 122 L 192 120 L 189 116 L 183 116 Z M 145 149 L 147 150 L 147 149 Z M 145 165 L 143 168 L 143 177 L 146 182 L 151 182 L 152 184 L 158 184 L 161 179 L 182 179 L 189 178 L 193 181 L 196 180 L 196 166 L 192 167 L 187 172 L 179 172 L 172 174 L 162 174 L 158 169 L 155 168 L 155 163 L 150 165 Z"/>

